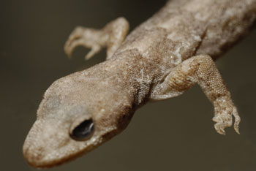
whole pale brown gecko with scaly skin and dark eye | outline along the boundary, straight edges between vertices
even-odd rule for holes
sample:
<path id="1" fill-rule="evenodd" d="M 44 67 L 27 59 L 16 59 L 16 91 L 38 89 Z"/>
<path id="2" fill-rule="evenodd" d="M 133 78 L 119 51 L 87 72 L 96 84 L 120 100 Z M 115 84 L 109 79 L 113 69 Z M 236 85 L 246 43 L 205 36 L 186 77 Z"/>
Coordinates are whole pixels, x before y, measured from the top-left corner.
<path id="1" fill-rule="evenodd" d="M 123 18 L 102 29 L 78 26 L 64 51 L 107 47 L 106 61 L 56 80 L 45 91 L 23 145 L 33 167 L 81 156 L 122 132 L 147 102 L 184 94 L 198 84 L 214 106 L 214 128 L 241 121 L 214 60 L 249 30 L 256 0 L 170 0 L 129 35 Z M 195 97 L 196 99 L 196 97 Z M 233 121 L 234 120 L 234 121 Z"/>

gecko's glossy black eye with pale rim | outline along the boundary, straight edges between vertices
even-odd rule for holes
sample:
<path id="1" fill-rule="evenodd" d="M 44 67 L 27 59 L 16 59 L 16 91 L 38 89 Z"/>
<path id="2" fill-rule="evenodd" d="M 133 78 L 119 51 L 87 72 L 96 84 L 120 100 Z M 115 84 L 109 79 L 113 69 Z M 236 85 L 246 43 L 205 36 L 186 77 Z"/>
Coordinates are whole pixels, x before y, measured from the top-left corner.
<path id="1" fill-rule="evenodd" d="M 94 132 L 94 122 L 92 119 L 83 121 L 73 131 L 71 137 L 75 140 L 86 140 Z"/>

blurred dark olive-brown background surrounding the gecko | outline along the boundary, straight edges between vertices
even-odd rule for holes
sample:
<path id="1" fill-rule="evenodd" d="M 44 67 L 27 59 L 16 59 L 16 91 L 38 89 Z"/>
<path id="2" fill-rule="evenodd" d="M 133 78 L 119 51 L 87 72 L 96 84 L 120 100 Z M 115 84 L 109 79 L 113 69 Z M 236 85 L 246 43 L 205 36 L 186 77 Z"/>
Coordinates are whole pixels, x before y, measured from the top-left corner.
<path id="1" fill-rule="evenodd" d="M 75 26 L 101 28 L 124 16 L 131 28 L 160 1 L 0 1 L 0 170 L 35 170 L 22 146 L 44 91 L 54 80 L 105 60 L 105 50 L 69 60 L 63 46 Z M 183 96 L 146 104 L 128 128 L 86 156 L 50 170 L 256 170 L 256 29 L 217 61 L 241 115 L 241 135 L 214 130 L 214 109 L 198 86 Z"/>

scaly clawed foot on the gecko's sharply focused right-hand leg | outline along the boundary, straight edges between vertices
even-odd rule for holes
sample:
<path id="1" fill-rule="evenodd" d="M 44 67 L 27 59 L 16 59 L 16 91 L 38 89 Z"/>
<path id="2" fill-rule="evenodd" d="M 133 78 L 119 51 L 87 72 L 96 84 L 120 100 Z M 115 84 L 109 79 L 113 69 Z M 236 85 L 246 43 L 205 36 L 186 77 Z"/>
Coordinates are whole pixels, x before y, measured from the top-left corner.
<path id="1" fill-rule="evenodd" d="M 215 116 L 213 118 L 213 121 L 217 122 L 214 125 L 214 128 L 219 134 L 225 134 L 225 128 L 232 126 L 233 118 L 232 115 L 235 118 L 234 123 L 234 129 L 235 131 L 239 133 L 238 124 L 240 123 L 241 119 L 238 115 L 237 109 L 233 104 L 227 104 L 223 103 L 225 102 L 224 99 L 222 99 L 222 102 L 215 105 Z M 228 102 L 228 101 L 227 101 Z"/>

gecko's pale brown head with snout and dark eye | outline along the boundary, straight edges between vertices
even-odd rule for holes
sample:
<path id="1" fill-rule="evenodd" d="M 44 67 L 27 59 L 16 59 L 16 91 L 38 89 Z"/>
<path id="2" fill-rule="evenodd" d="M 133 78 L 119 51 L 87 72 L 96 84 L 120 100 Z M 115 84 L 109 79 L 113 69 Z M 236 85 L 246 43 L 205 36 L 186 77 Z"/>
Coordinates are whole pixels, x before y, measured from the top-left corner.
<path id="1" fill-rule="evenodd" d="M 127 126 L 132 118 L 129 105 L 113 91 L 89 86 L 84 91 L 85 85 L 61 79 L 45 92 L 37 120 L 23 145 L 23 154 L 31 166 L 53 167 L 75 159 Z M 102 102 L 101 96 L 107 100 Z"/>

